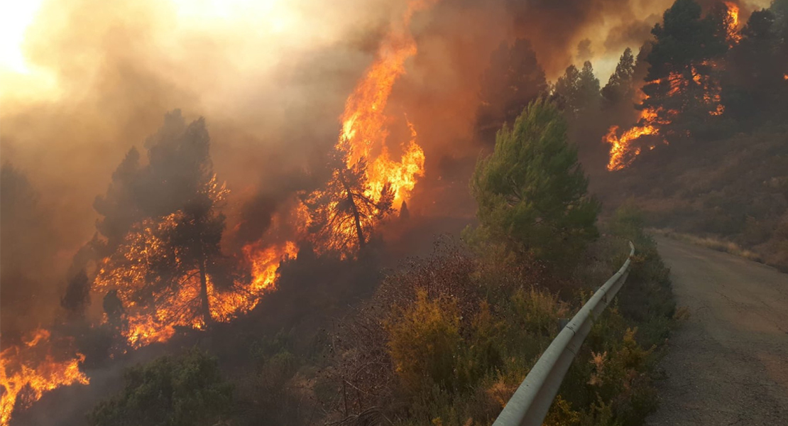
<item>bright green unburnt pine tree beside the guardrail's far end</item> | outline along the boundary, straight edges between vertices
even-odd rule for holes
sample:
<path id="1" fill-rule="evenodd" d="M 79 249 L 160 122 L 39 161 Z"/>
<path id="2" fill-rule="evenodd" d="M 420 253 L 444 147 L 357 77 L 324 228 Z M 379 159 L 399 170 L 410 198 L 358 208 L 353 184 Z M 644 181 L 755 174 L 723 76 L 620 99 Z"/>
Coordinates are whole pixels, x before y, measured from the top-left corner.
<path id="1" fill-rule="evenodd" d="M 599 203 L 587 194 L 566 121 L 552 102 L 532 102 L 512 128 L 498 132 L 495 150 L 479 161 L 470 189 L 480 223 L 471 239 L 571 264 L 597 235 Z"/>

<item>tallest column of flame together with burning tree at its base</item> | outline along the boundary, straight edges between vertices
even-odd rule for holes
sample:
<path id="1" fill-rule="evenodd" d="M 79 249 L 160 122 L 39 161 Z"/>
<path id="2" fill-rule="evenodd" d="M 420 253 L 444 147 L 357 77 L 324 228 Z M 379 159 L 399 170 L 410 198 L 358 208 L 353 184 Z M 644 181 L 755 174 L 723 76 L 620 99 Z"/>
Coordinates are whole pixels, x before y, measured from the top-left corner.
<path id="1" fill-rule="evenodd" d="M 314 224 L 320 229 L 310 236 L 318 254 L 336 251 L 341 258 L 351 256 L 390 213 L 389 208 L 397 211 L 410 199 L 418 178 L 424 176 L 424 150 L 407 117 L 404 118 L 411 137 L 400 141 L 400 157 L 392 156 L 388 124 L 394 117 L 387 113 L 386 106 L 394 83 L 406 72 L 405 62 L 417 52 L 409 28 L 411 17 L 436 1 L 411 0 L 407 4 L 401 19 L 392 22 L 381 41 L 375 60 L 345 101 L 335 145 L 336 152 L 343 155 L 344 167 L 333 170 L 325 190 L 312 191 L 305 199 L 311 206 L 308 209 L 314 211 L 303 215 L 308 209 L 302 208 L 296 212 L 299 217 L 307 217 L 307 228 Z M 381 211 L 383 206 L 386 211 Z M 314 219 L 310 215 L 329 219 Z M 320 220 L 326 223 L 321 224 Z"/>

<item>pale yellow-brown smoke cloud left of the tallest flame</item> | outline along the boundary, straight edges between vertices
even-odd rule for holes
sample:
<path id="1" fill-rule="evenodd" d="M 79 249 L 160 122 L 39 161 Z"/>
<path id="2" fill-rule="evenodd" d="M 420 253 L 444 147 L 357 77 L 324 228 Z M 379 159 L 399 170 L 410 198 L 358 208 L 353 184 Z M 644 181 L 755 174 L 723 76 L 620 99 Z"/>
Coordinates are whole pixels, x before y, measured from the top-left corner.
<path id="1" fill-rule="evenodd" d="M 4 335 L 17 328 L 6 321 L 10 306 L 38 310 L 26 328 L 46 324 L 41 313 L 55 310 L 71 257 L 95 232 L 94 198 L 165 112 L 206 117 L 216 172 L 238 194 L 281 192 L 289 175 L 318 157 L 316 147 L 333 144 L 344 96 L 391 12 L 381 2 L 334 3 L 319 10 L 290 2 L 245 20 L 244 10 L 209 20 L 152 0 L 43 3 L 23 46 L 32 71 L 2 73 L 2 160 L 29 181 L 36 209 L 50 213 L 6 214 L 32 207 L 9 198 L 4 169 Z M 234 201 L 229 209 L 243 206 Z M 6 232 L 19 228 L 14 217 L 37 220 L 24 229 L 42 231 Z M 48 272 L 36 282 L 49 291 L 31 291 L 6 273 L 12 263 L 28 275 Z"/>

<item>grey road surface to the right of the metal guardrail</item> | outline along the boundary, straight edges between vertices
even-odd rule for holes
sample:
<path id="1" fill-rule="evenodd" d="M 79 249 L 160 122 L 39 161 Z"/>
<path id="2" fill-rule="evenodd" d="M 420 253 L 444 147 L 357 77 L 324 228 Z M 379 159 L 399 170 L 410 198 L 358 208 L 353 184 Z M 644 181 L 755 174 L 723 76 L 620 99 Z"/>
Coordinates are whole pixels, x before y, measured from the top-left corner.
<path id="1" fill-rule="evenodd" d="M 788 274 L 658 238 L 678 306 L 651 426 L 788 425 Z"/>

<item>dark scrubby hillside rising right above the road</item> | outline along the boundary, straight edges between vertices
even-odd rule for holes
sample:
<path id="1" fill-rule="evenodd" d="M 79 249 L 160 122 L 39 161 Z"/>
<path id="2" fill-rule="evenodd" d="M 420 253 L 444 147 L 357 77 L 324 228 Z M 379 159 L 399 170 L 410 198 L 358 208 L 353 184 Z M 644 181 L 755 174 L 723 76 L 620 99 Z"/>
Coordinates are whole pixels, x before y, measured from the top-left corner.
<path id="1" fill-rule="evenodd" d="M 634 198 L 653 227 L 735 243 L 788 270 L 784 125 L 671 146 L 611 173 L 599 191 L 611 205 Z"/>

